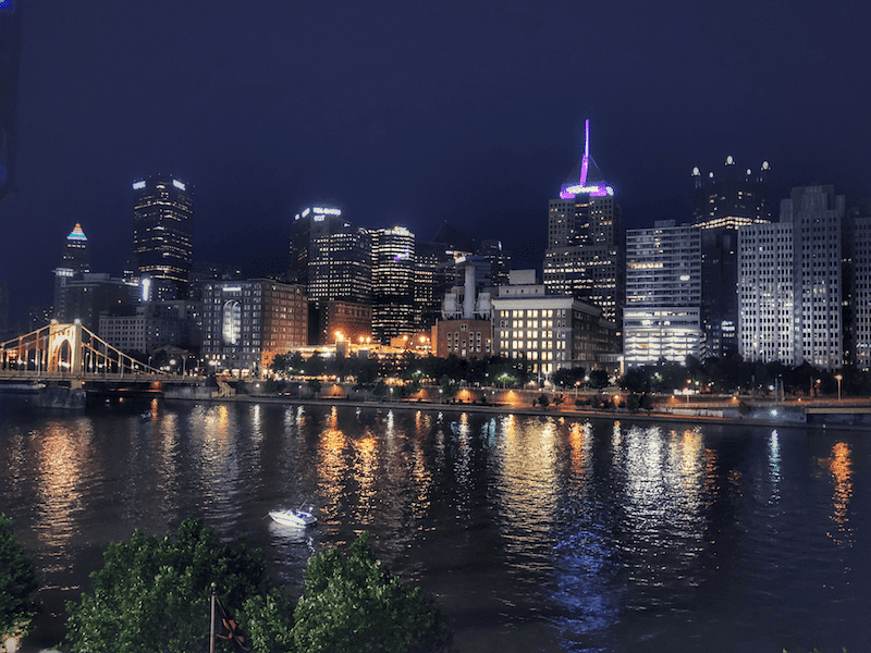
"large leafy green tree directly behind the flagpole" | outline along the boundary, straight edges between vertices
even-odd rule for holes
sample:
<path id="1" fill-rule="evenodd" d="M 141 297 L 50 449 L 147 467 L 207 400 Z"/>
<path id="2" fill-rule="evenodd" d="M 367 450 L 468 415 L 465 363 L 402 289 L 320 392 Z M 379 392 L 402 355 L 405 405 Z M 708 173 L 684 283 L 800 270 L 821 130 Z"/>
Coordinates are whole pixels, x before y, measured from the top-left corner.
<path id="1" fill-rule="evenodd" d="M 212 582 L 222 604 L 244 623 L 245 600 L 268 590 L 262 553 L 244 540 L 221 544 L 201 519 L 184 520 L 174 538 L 137 530 L 130 541 L 109 545 L 102 569 L 90 575 L 91 593 L 68 603 L 65 650 L 207 651 Z M 261 605 L 266 611 L 267 602 Z"/>

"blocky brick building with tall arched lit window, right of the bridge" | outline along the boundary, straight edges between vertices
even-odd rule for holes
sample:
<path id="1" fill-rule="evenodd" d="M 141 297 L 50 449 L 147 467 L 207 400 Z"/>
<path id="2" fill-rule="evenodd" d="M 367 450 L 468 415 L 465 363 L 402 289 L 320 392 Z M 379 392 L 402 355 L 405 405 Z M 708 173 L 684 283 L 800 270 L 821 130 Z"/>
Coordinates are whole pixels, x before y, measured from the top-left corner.
<path id="1" fill-rule="evenodd" d="M 259 377 L 278 354 L 305 346 L 304 288 L 269 279 L 207 283 L 203 287 L 203 357 L 216 372 Z"/>

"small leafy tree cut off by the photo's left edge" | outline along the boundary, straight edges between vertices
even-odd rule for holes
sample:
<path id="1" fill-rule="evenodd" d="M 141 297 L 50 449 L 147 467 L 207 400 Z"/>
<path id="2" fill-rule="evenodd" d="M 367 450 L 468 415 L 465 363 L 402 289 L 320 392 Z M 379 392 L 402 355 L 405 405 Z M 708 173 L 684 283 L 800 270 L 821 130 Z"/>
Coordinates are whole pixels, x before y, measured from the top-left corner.
<path id="1" fill-rule="evenodd" d="M 0 514 L 0 642 L 27 634 L 38 591 L 36 566 L 12 532 L 12 520 Z"/>

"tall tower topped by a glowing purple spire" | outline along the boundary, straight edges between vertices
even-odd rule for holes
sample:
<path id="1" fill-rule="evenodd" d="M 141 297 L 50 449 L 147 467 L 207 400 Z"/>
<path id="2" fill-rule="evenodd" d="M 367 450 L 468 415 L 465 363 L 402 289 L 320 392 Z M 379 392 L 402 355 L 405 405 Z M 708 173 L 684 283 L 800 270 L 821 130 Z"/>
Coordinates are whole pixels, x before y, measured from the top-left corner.
<path id="1" fill-rule="evenodd" d="M 584 158 L 552 199 L 548 211 L 544 286 L 602 309 L 608 320 L 623 321 L 626 294 L 626 246 L 621 207 L 590 156 L 586 122 Z"/>

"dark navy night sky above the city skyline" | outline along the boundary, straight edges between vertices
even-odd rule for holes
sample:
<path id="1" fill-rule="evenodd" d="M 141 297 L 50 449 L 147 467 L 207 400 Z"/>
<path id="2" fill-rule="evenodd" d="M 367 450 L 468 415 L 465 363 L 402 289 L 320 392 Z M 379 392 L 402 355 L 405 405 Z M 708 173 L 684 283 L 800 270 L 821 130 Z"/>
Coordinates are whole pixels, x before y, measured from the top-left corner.
<path id="1" fill-rule="evenodd" d="M 585 119 L 628 229 L 688 220 L 692 168 L 729 155 L 770 162 L 775 207 L 819 182 L 871 195 L 866 1 L 19 2 L 13 307 L 51 300 L 76 222 L 120 273 L 154 172 L 195 187 L 196 259 L 255 271 L 327 202 L 540 269 Z"/>

